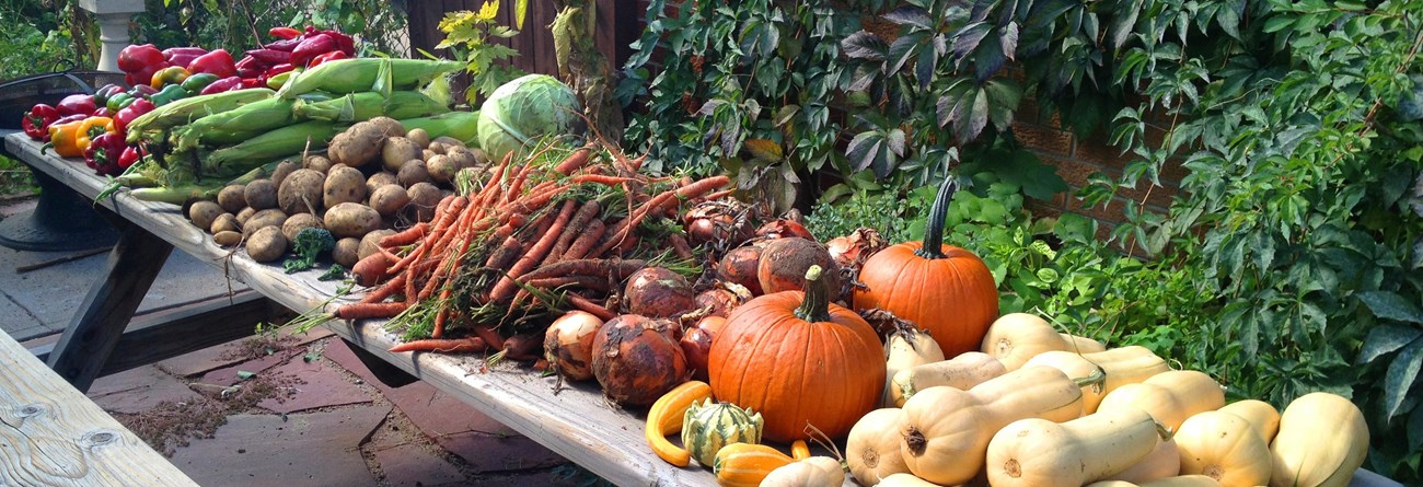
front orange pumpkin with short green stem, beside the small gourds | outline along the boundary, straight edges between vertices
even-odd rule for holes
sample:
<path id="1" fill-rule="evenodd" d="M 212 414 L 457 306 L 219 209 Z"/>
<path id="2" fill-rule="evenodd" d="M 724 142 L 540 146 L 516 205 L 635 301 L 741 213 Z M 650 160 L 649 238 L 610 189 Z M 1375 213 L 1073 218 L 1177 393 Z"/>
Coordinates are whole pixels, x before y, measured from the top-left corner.
<path id="1" fill-rule="evenodd" d="M 879 402 L 879 337 L 828 296 L 821 268 L 811 266 L 804 292 L 751 299 L 731 312 L 712 343 L 713 394 L 760 412 L 768 440 L 808 439 L 807 426 L 844 437 Z"/>

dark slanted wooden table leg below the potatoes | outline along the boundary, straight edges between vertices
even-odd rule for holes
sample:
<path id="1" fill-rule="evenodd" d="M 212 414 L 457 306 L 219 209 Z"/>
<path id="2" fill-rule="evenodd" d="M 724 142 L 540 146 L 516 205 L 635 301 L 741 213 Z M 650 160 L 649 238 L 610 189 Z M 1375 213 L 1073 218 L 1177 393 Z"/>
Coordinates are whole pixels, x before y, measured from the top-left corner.
<path id="1" fill-rule="evenodd" d="M 48 366 L 80 392 L 88 390 L 118 343 L 148 288 L 174 246 L 148 231 L 100 209 L 120 228 L 102 281 L 90 288 L 84 303 L 50 353 Z"/>

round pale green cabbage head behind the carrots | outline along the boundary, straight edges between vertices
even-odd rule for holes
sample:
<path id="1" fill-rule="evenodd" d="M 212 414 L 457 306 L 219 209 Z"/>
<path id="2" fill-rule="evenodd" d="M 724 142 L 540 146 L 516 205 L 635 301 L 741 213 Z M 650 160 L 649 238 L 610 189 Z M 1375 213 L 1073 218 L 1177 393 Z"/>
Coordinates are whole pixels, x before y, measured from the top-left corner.
<path id="1" fill-rule="evenodd" d="M 505 83 L 480 107 L 480 148 L 491 161 L 582 125 L 578 95 L 558 78 L 528 74 Z M 524 152 L 527 154 L 527 152 Z"/>

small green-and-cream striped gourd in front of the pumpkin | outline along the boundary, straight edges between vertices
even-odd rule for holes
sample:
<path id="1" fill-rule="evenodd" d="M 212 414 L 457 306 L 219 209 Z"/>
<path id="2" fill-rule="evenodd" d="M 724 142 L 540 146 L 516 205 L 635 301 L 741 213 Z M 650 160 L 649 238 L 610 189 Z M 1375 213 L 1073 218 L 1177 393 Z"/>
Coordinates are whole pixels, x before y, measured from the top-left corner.
<path id="1" fill-rule="evenodd" d="M 751 413 L 731 403 L 703 400 L 693 403 L 682 420 L 682 444 L 703 466 L 731 443 L 761 443 L 761 413 Z"/>

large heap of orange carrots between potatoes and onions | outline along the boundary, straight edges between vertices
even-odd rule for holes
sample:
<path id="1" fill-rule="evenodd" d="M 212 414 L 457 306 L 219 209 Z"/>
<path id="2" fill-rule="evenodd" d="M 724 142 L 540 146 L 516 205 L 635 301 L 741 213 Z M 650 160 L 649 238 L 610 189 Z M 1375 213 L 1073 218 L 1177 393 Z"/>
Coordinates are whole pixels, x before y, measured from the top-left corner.
<path id="1" fill-rule="evenodd" d="M 675 222 L 684 204 L 730 194 L 719 191 L 730 184 L 724 175 L 653 178 L 640 162 L 601 144 L 555 161 L 544 152 L 522 164 L 505 158 L 481 188 L 445 197 L 430 222 L 381 239 L 381 252 L 351 269 L 366 295 L 332 318 L 428 325 L 420 328 L 428 339 L 391 352 L 507 350 L 509 336 L 494 323 L 518 310 L 581 309 L 612 319 L 610 295 L 662 249 L 692 259 L 680 229 L 643 229 Z M 451 323 L 470 336 L 448 337 Z"/>

